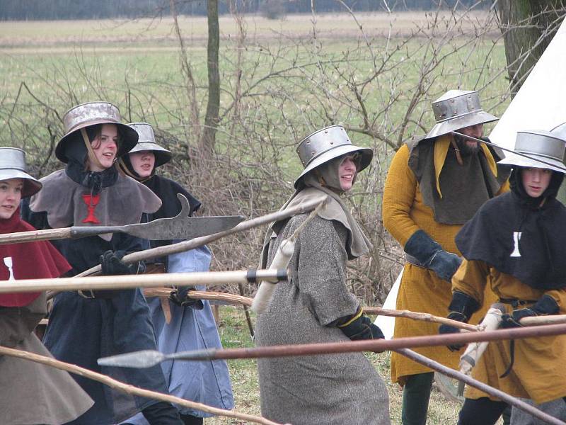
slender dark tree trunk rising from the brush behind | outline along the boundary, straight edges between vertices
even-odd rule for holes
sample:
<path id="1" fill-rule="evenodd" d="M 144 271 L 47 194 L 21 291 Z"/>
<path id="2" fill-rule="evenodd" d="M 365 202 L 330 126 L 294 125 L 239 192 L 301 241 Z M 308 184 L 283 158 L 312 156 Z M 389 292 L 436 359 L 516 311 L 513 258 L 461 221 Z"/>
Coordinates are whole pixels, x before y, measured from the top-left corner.
<path id="1" fill-rule="evenodd" d="M 204 130 L 200 139 L 200 152 L 204 157 L 212 157 L 216 141 L 216 126 L 219 123 L 220 109 L 220 73 L 218 52 L 220 30 L 218 23 L 218 0 L 207 1 L 208 12 L 208 103 L 204 118 Z"/>

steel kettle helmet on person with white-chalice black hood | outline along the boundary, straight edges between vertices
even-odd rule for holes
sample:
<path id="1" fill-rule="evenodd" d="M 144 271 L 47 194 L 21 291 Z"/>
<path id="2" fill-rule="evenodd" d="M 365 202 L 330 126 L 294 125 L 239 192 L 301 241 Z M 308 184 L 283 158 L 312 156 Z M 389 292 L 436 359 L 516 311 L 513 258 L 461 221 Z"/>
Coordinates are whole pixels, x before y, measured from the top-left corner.
<path id="1" fill-rule="evenodd" d="M 566 174 L 564 153 L 566 141 L 558 134 L 545 130 L 517 132 L 515 151 L 529 157 L 509 154 L 499 164 L 550 169 Z M 542 162 L 537 161 L 541 159 Z"/>

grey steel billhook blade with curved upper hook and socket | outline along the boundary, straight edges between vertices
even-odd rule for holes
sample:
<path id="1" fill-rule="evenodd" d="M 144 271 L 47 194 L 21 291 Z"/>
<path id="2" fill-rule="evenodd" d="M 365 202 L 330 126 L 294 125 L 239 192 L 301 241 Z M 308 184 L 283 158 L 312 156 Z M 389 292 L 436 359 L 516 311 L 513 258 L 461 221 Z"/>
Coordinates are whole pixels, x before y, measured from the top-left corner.
<path id="1" fill-rule="evenodd" d="M 122 232 L 142 239 L 171 240 L 193 239 L 224 232 L 238 225 L 244 217 L 242 215 L 219 215 L 216 217 L 189 217 L 189 201 L 181 193 L 177 193 L 181 203 L 181 212 L 172 218 L 159 218 L 149 223 L 139 223 L 125 226 L 94 226 L 71 227 L 71 237 L 79 238 L 93 234 Z"/>

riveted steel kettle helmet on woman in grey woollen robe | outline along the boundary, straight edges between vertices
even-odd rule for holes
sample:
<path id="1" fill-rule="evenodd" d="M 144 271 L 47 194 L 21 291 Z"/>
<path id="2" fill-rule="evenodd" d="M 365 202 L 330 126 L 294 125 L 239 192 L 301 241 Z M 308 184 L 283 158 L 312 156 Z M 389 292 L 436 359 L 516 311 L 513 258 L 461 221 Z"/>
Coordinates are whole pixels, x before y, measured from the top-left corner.
<path id="1" fill-rule="evenodd" d="M 351 152 L 359 153 L 358 172 L 369 166 L 374 150 L 369 147 L 352 145 L 345 128 L 342 125 L 330 125 L 305 137 L 296 148 L 304 169 L 295 180 L 295 188 L 299 187 L 301 179 L 317 166 L 329 162 L 331 159 L 341 157 Z"/>

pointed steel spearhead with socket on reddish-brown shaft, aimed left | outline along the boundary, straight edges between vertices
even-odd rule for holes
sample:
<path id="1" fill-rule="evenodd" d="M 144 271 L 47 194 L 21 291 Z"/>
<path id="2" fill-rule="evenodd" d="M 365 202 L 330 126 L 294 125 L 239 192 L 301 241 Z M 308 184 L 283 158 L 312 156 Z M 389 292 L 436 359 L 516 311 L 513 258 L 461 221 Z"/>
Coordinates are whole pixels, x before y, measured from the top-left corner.
<path id="1" fill-rule="evenodd" d="M 155 350 L 141 350 L 133 353 L 118 354 L 117 356 L 102 357 L 98 359 L 101 366 L 114 366 L 117 368 L 151 368 L 166 360 L 211 360 L 214 359 L 216 349 L 183 351 L 180 353 L 163 354 Z"/>

